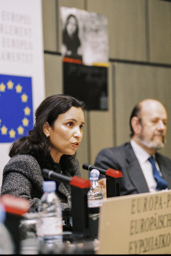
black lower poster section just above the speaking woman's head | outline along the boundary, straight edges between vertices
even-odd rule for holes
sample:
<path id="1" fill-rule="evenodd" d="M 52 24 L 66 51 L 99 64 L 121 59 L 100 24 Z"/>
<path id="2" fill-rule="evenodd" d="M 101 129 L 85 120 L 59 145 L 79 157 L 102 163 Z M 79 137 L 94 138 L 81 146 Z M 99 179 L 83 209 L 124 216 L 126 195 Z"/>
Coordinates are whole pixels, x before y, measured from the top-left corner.
<path id="1" fill-rule="evenodd" d="M 86 110 L 107 110 L 107 68 L 63 62 L 63 91 Z"/>

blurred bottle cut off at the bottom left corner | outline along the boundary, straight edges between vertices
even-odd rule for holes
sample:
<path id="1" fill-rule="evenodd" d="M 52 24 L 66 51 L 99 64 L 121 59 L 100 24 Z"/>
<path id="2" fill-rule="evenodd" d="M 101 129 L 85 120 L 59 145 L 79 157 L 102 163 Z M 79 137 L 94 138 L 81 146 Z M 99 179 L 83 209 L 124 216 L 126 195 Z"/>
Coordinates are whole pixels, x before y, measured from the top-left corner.
<path id="1" fill-rule="evenodd" d="M 0 204 L 0 254 L 14 254 L 11 235 L 4 225 L 5 215 L 5 211 Z"/>

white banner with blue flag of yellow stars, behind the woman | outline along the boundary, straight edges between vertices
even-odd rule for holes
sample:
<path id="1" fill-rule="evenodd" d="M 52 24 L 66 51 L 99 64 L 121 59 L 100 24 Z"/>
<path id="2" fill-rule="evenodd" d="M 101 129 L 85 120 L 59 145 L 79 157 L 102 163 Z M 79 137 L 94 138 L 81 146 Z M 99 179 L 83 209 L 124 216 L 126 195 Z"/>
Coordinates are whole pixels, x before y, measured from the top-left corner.
<path id="1" fill-rule="evenodd" d="M 12 142 L 44 99 L 41 0 L 0 0 L 0 186 Z"/>

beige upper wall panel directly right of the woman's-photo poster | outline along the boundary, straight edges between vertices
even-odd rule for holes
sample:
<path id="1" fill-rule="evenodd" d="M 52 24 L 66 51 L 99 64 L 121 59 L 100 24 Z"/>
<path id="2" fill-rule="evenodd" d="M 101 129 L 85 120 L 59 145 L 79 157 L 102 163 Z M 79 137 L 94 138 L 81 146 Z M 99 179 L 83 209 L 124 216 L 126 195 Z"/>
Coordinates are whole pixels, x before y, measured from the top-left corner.
<path id="1" fill-rule="evenodd" d="M 87 0 L 87 10 L 108 18 L 109 58 L 146 61 L 144 0 Z"/>

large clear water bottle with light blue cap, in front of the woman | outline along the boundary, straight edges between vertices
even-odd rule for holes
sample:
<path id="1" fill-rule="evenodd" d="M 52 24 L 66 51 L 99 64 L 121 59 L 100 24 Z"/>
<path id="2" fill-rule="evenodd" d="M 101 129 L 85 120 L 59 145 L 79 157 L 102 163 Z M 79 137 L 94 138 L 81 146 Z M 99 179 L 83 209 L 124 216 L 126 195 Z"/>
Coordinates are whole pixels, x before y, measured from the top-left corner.
<path id="1" fill-rule="evenodd" d="M 54 181 L 43 182 L 44 193 L 38 207 L 41 224 L 36 227 L 40 253 L 58 253 L 62 244 L 62 213 L 55 190 Z"/>

